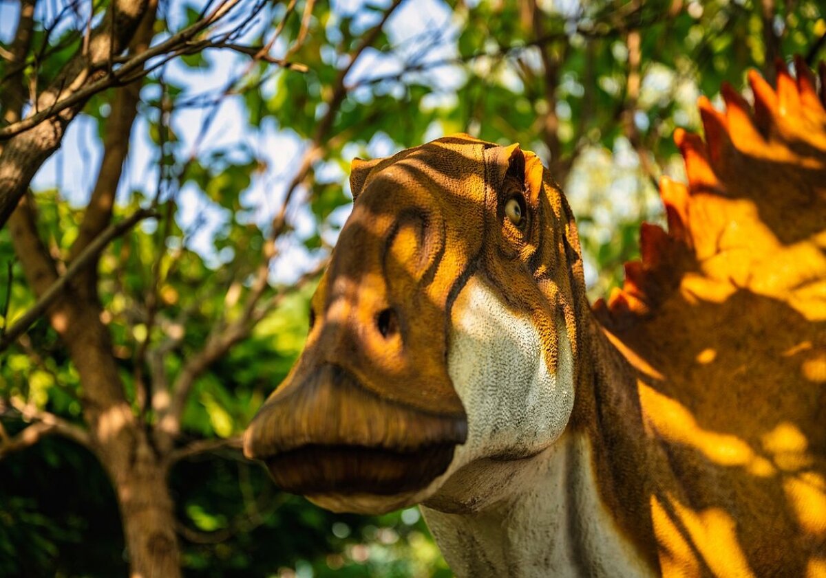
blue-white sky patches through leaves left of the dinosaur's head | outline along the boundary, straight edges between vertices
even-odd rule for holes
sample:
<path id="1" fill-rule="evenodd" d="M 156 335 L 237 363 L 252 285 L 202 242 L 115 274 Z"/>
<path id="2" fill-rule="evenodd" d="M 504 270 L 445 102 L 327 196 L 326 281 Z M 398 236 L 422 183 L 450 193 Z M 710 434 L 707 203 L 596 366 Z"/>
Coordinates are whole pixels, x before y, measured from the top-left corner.
<path id="1" fill-rule="evenodd" d="M 377 21 L 378 16 L 373 10 L 365 10 L 365 3 L 363 0 L 334 0 L 332 7 L 333 12 L 339 16 L 355 15 L 356 21 L 368 28 Z M 370 4 L 376 6 L 377 2 Z M 169 2 L 168 6 L 170 27 L 173 30 L 183 27 L 185 4 Z M 43 21 L 49 21 L 54 13 L 55 7 L 46 2 L 40 4 L 37 16 Z M 17 2 L 0 0 L 0 40 L 11 40 L 17 16 Z M 439 0 L 403 2 L 387 22 L 386 30 L 394 45 L 405 44 L 406 51 L 415 53 L 421 48 L 420 42 L 416 41 L 418 36 L 437 29 L 444 30 L 448 37 L 451 35 L 451 16 L 452 12 Z M 256 30 L 260 28 L 250 32 L 250 38 Z M 273 54 L 279 56 L 286 48 L 282 43 L 277 43 L 273 47 Z M 428 58 L 442 59 L 451 52 L 452 47 L 449 45 L 430 46 Z M 227 78 L 249 63 L 245 56 L 228 50 L 208 50 L 206 58 L 209 62 L 206 68 L 189 68 L 180 61 L 173 60 L 164 69 L 164 77 L 179 86 L 195 87 L 194 92 L 197 93 L 220 91 L 225 86 Z M 354 83 L 363 78 L 394 73 L 401 67 L 402 62 L 395 57 L 367 50 L 354 66 L 347 82 Z M 451 83 L 455 81 L 452 81 L 449 75 L 440 81 L 443 86 L 450 86 Z M 155 88 L 145 87 L 142 96 L 156 97 Z M 272 86 L 263 86 L 265 92 L 272 90 Z M 285 185 L 292 177 L 292 168 L 304 152 L 305 143 L 291 131 L 278 129 L 271 120 L 265 120 L 257 131 L 248 130 L 240 96 L 226 98 L 221 103 L 216 113 L 216 121 L 200 142 L 197 142 L 205 114 L 206 110 L 189 109 L 178 111 L 174 115 L 172 129 L 182 143 L 181 150 L 187 153 L 192 150 L 203 153 L 209 150 L 232 151 L 243 148 L 255 151 L 255 155 L 264 161 L 267 168 L 265 172 L 255 176 L 248 190 L 243 191 L 242 200 L 245 205 L 254 208 L 254 220 L 262 226 L 265 225 L 271 220 L 273 212 L 281 206 Z M 431 136 L 437 138 L 440 134 Z M 158 179 L 157 147 L 150 141 L 148 123 L 142 115 L 135 121 L 130 146 L 118 192 L 118 199 L 121 201 L 126 200 L 132 190 L 144 190 L 149 195 L 154 194 L 154 183 Z M 395 153 L 397 148 L 389 139 L 377 138 L 368 146 L 368 153 L 371 156 L 387 156 Z M 351 156 L 356 156 L 357 152 L 354 148 Z M 69 125 L 59 151 L 37 172 L 32 181 L 32 188 L 45 190 L 56 187 L 70 202 L 84 204 L 91 194 L 101 156 L 102 146 L 97 137 L 97 121 L 88 115 L 78 115 Z M 347 175 L 338 171 L 337 167 L 322 167 L 321 170 L 326 172 L 327 178 L 340 178 L 345 188 L 349 189 Z M 190 247 L 205 256 L 214 266 L 230 258 L 229 255 L 216 255 L 211 243 L 211 238 L 224 220 L 222 209 L 207 200 L 192 184 L 184 186 L 178 195 L 178 219 L 182 228 L 186 230 L 200 219 L 197 231 L 189 240 Z M 332 216 L 333 221 L 336 224 L 344 223 L 350 209 L 351 205 L 340 208 Z M 300 202 L 292 209 L 292 223 L 299 236 L 309 237 L 314 232 L 311 214 L 307 210 L 301 210 Z M 145 227 L 152 226 L 152 223 L 145 224 Z M 326 241 L 335 242 L 335 237 Z M 314 261 L 298 242 L 287 243 L 286 247 L 282 247 L 282 257 L 273 263 L 273 280 L 283 283 L 296 280 L 302 272 L 314 266 Z"/>

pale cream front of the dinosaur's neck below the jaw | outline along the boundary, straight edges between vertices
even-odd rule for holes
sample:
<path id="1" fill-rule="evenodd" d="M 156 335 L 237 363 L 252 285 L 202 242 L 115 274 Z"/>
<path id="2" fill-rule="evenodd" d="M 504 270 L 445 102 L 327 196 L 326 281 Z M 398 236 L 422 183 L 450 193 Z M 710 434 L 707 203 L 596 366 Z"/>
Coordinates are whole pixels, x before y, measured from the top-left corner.
<path id="1" fill-rule="evenodd" d="M 520 490 L 505 500 L 460 514 L 422 506 L 456 575 L 651 575 L 605 509 L 592 461 L 591 441 L 567 433 L 515 466 L 518 483 L 512 486 Z"/>

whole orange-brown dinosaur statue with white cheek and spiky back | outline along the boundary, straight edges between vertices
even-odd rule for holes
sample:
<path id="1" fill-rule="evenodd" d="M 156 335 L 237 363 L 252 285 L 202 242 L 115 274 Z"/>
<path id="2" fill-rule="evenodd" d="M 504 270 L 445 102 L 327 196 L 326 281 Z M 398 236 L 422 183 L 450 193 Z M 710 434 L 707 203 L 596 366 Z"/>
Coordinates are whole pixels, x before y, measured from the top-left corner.
<path id="1" fill-rule="evenodd" d="M 826 576 L 826 111 L 700 100 L 668 231 L 592 308 L 538 157 L 357 160 L 306 348 L 246 432 L 335 511 L 421 504 L 458 576 Z"/>

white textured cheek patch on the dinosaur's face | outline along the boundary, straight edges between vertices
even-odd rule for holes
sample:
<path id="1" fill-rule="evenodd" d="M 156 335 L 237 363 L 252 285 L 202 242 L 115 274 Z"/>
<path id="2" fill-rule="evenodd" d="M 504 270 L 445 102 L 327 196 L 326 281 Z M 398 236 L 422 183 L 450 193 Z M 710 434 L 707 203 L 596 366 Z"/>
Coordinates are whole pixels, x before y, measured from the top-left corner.
<path id="1" fill-rule="evenodd" d="M 550 368 L 534 322 L 506 308 L 477 277 L 458 295 L 452 322 L 449 374 L 468 414 L 468 443 L 457 458 L 524 458 L 547 448 L 573 407 L 564 329 Z"/>

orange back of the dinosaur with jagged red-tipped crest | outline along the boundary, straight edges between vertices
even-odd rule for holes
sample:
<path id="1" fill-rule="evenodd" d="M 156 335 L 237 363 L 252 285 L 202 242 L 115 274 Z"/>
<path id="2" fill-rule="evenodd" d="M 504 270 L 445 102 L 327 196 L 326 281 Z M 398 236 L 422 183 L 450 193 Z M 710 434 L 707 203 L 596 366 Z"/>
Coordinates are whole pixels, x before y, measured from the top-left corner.
<path id="1" fill-rule="evenodd" d="M 642 260 L 594 306 L 662 448 L 666 573 L 826 569 L 826 110 L 805 63 L 780 68 L 774 88 L 749 76 L 753 106 L 700 99 L 705 141 L 675 134 L 688 183 L 661 184 L 667 231 L 643 225 Z"/>

